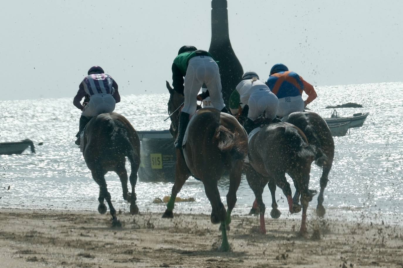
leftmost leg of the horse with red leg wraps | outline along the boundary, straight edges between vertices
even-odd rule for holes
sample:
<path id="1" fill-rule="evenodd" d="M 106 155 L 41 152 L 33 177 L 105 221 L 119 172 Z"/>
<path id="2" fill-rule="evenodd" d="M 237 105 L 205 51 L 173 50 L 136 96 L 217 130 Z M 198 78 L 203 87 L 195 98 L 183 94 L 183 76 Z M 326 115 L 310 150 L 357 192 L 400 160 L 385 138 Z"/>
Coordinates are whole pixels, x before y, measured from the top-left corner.
<path id="1" fill-rule="evenodd" d="M 264 190 L 264 186 L 268 182 L 263 178 L 258 172 L 256 172 L 251 166 L 245 166 L 246 180 L 249 184 L 249 187 L 252 189 L 255 194 L 255 202 L 257 205 L 257 210 L 259 211 L 260 216 L 260 229 L 261 233 L 266 233 L 266 223 L 264 221 L 264 213 L 266 211 L 266 206 L 263 203 L 262 193 Z M 255 203 L 253 203 L 255 205 Z"/>

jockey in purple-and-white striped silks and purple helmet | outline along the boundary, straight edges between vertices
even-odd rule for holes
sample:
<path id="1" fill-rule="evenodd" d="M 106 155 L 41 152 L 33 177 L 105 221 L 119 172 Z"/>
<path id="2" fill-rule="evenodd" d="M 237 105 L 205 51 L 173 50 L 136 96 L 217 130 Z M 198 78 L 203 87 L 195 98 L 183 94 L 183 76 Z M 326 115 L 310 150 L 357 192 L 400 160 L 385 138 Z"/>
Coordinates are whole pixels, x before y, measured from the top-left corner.
<path id="1" fill-rule="evenodd" d="M 81 99 L 85 97 L 84 102 L 89 98 L 86 106 L 81 105 Z M 120 102 L 118 84 L 99 66 L 93 66 L 88 70 L 88 76 L 83 79 L 79 86 L 77 95 L 74 97 L 73 104 L 83 112 L 80 117 L 79 131 L 76 135 L 75 144 L 80 145 L 80 133 L 91 117 L 102 113 L 112 113 L 115 104 Z"/>

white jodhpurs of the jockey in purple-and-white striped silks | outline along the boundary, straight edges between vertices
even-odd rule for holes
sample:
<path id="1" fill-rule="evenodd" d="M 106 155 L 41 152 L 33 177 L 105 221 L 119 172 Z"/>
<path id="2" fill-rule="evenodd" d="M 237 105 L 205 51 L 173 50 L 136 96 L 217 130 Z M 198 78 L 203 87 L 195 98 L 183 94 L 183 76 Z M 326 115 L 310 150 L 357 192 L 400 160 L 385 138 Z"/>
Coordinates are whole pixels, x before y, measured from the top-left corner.
<path id="1" fill-rule="evenodd" d="M 112 113 L 115 109 L 116 101 L 111 94 L 95 94 L 89 98 L 88 104 L 84 107 L 81 115 L 94 117 L 102 113 Z"/>

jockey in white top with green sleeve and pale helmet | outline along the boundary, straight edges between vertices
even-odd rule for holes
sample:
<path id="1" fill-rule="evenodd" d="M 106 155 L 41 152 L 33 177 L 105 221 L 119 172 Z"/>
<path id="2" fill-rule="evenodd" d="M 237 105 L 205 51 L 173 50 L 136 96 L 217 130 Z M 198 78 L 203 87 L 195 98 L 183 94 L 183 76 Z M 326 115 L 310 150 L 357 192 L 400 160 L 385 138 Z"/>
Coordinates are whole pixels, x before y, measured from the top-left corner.
<path id="1" fill-rule="evenodd" d="M 236 96 L 239 96 L 238 105 L 239 101 L 241 101 L 243 104 L 248 104 L 249 106 L 248 116 L 243 124 L 248 134 L 256 127 L 255 121 L 263 112 L 265 113 L 267 123 L 271 123 L 276 118 L 278 99 L 268 86 L 259 80 L 256 72 L 248 71 L 243 74 L 242 81 L 239 82 L 236 90 L 231 94 L 230 103 L 236 102 L 236 100 L 234 101 Z M 233 110 L 233 106 L 230 106 L 230 108 L 231 111 L 235 111 Z"/>

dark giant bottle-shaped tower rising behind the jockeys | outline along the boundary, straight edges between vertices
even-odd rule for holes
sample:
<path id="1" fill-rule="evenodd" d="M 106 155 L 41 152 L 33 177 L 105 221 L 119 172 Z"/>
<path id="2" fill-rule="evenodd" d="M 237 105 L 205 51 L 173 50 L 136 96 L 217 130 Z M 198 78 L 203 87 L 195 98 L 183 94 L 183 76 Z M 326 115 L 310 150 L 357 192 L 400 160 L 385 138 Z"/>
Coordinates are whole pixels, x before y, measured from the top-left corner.
<path id="1" fill-rule="evenodd" d="M 211 43 L 208 52 L 219 61 L 222 97 L 228 107 L 229 97 L 242 79 L 243 69 L 229 41 L 226 0 L 211 1 Z"/>

